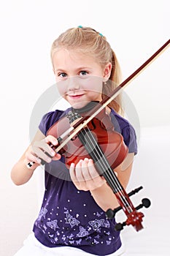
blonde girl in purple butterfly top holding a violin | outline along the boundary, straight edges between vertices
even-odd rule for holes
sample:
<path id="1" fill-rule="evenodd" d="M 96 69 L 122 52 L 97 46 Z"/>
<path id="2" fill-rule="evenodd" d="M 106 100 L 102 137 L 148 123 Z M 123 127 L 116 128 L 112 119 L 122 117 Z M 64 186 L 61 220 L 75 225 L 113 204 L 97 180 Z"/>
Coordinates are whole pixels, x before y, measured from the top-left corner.
<path id="1" fill-rule="evenodd" d="M 92 101 L 101 102 L 120 83 L 115 53 L 107 39 L 94 29 L 80 26 L 61 34 L 53 42 L 51 59 L 58 91 L 77 110 Z M 120 106 L 117 97 L 106 113 L 128 146 L 128 156 L 115 168 L 117 178 L 126 187 L 136 154 L 136 135 L 131 124 L 120 116 Z M 108 208 L 118 206 L 117 200 L 105 179 L 98 175 L 93 160 L 85 157 L 77 164 L 72 162 L 68 170 L 64 157 L 49 146 L 56 146 L 58 140 L 47 135 L 48 129 L 68 111 L 55 110 L 43 116 L 33 142 L 12 168 L 12 181 L 20 185 L 31 178 L 41 159 L 46 162 L 45 195 L 34 222 L 34 235 L 27 238 L 15 256 L 41 256 L 46 252 L 49 256 L 123 253 L 120 233 L 114 229 L 115 219 L 105 217 Z M 28 162 L 34 162 L 30 170 Z"/>

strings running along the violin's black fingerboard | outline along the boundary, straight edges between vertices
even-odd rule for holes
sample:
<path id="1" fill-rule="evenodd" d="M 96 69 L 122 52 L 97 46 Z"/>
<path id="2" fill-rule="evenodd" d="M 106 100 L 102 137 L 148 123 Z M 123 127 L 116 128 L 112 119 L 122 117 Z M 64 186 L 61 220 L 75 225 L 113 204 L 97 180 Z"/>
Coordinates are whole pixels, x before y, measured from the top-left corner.
<path id="1" fill-rule="evenodd" d="M 123 189 L 122 187 L 120 186 L 120 184 L 118 183 L 117 179 L 114 178 L 113 176 L 113 170 L 111 169 L 111 167 L 109 166 L 109 163 L 107 162 L 107 159 L 104 157 L 104 153 L 101 151 L 101 148 L 98 146 L 98 143 L 96 143 L 96 140 L 95 138 L 93 138 L 93 135 L 92 133 L 90 132 L 90 129 L 88 128 L 88 132 L 86 131 L 87 130 L 87 127 L 86 127 L 86 130 L 85 129 L 82 129 L 84 132 L 85 132 L 85 135 L 87 136 L 87 139 L 88 141 L 90 141 L 90 143 L 86 143 L 86 146 L 88 145 L 88 148 L 90 149 L 90 152 L 93 152 L 93 148 L 95 148 L 95 146 L 97 147 L 97 151 L 96 151 L 96 159 L 100 159 L 101 157 L 101 164 L 103 165 L 102 166 L 102 169 L 104 170 L 104 174 L 106 175 L 106 177 L 108 178 L 108 181 L 110 182 L 110 184 L 112 185 L 112 187 L 117 187 L 119 189 L 119 195 L 121 195 L 122 199 L 124 200 L 125 202 L 125 207 L 127 208 L 128 211 L 133 211 L 131 206 L 129 205 L 129 202 L 127 200 L 127 198 L 125 197 L 125 195 L 123 195 Z M 81 132 L 82 135 L 83 135 L 83 132 Z M 90 136 L 91 135 L 91 136 Z M 83 135 L 84 137 L 84 135 Z M 116 191 L 117 189 L 115 189 Z"/>

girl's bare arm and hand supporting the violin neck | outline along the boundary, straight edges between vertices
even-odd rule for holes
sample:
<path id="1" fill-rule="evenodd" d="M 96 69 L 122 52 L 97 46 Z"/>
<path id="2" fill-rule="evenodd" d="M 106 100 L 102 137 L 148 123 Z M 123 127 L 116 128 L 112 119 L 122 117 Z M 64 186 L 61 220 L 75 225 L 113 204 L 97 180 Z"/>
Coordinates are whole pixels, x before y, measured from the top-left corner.
<path id="1" fill-rule="evenodd" d="M 127 187 L 131 176 L 133 160 L 134 153 L 129 153 L 124 161 L 114 170 L 124 189 Z M 89 190 L 93 199 L 104 211 L 107 211 L 108 208 L 113 209 L 119 206 L 117 198 L 107 184 L 107 181 L 104 177 L 98 175 L 92 159 L 80 160 L 77 165 L 72 164 L 70 175 L 77 189 Z"/>

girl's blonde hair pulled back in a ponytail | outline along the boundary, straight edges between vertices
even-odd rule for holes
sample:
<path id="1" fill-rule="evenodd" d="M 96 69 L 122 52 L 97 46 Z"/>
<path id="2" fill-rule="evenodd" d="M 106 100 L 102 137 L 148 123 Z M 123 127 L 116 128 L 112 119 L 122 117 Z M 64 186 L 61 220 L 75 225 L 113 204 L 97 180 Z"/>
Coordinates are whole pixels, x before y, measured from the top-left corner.
<path id="1" fill-rule="evenodd" d="M 83 53 L 93 56 L 98 59 L 101 67 L 105 64 L 112 63 L 112 71 L 107 83 L 104 83 L 102 98 L 104 95 L 112 94 L 112 91 L 120 84 L 121 72 L 120 65 L 117 61 L 114 51 L 107 42 L 106 37 L 98 33 L 96 30 L 89 27 L 77 27 L 73 29 L 68 29 L 63 32 L 55 41 L 53 42 L 51 48 L 51 60 L 53 63 L 54 53 L 59 48 L 66 49 L 78 49 Z M 112 82 L 112 83 L 110 83 Z M 123 113 L 122 111 L 122 99 L 119 94 L 114 100 L 109 104 L 110 108 L 113 108 L 117 113 Z"/>

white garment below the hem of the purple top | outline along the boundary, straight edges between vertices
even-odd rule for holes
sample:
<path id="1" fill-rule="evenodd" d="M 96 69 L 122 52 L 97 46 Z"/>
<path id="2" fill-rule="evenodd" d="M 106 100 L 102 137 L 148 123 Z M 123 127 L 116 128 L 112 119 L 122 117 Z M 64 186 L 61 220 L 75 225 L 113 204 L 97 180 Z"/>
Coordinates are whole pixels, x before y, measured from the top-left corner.
<path id="1" fill-rule="evenodd" d="M 124 246 L 121 246 L 117 252 L 112 253 L 108 256 L 120 256 L 123 255 Z M 77 249 L 70 246 L 61 246 L 49 248 L 39 243 L 35 238 L 34 233 L 28 236 L 23 242 L 23 247 L 15 253 L 14 256 L 91 256 L 92 254 L 82 251 L 82 249 Z"/>

